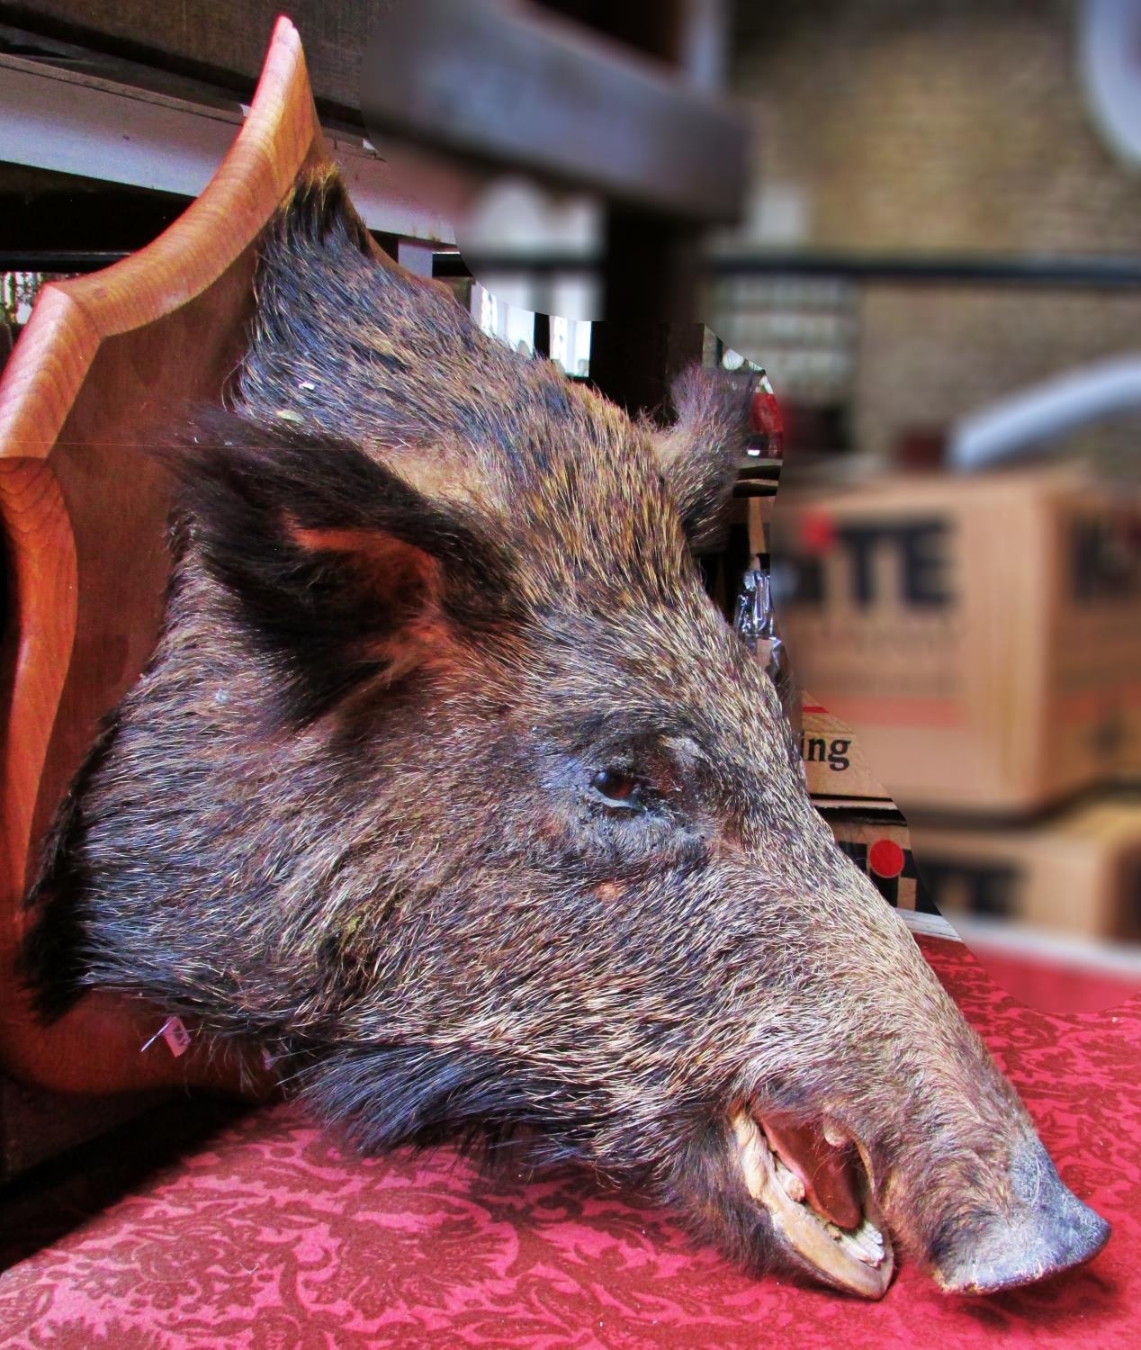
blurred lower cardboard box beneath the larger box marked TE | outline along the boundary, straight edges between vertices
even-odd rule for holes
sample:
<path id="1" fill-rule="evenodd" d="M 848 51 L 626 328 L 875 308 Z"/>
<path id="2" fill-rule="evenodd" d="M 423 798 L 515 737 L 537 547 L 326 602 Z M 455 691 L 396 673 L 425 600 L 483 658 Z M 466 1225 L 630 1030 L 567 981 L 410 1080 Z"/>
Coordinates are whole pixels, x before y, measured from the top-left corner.
<path id="1" fill-rule="evenodd" d="M 1141 795 L 1102 798 L 1022 829 L 917 825 L 911 838 L 924 888 L 952 923 L 1006 921 L 1141 944 Z"/>

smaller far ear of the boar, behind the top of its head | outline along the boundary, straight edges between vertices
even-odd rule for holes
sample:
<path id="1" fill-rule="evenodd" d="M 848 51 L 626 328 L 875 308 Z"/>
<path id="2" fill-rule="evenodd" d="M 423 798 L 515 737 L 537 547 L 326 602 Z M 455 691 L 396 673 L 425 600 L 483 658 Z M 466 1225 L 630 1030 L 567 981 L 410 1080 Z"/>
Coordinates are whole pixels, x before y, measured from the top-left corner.
<path id="1" fill-rule="evenodd" d="M 654 437 L 690 547 L 716 547 L 749 436 L 752 382 L 691 366 L 671 389 L 678 420 Z"/>

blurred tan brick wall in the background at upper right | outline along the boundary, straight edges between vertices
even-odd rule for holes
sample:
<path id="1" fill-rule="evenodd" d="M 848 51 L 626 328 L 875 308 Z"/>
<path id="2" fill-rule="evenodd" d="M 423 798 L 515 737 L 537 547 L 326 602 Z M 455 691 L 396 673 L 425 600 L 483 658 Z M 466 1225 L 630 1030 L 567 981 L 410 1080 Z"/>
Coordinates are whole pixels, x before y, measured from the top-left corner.
<path id="1" fill-rule="evenodd" d="M 736 8 L 732 84 L 759 128 L 762 235 L 771 205 L 791 200 L 798 238 L 782 242 L 806 247 L 1141 254 L 1141 170 L 1114 158 L 1086 111 L 1075 4 Z M 874 452 L 1055 371 L 1141 350 L 1141 293 L 876 285 L 859 317 L 852 412 L 859 447 Z M 1141 448 L 1141 418 L 1096 440 Z"/>

